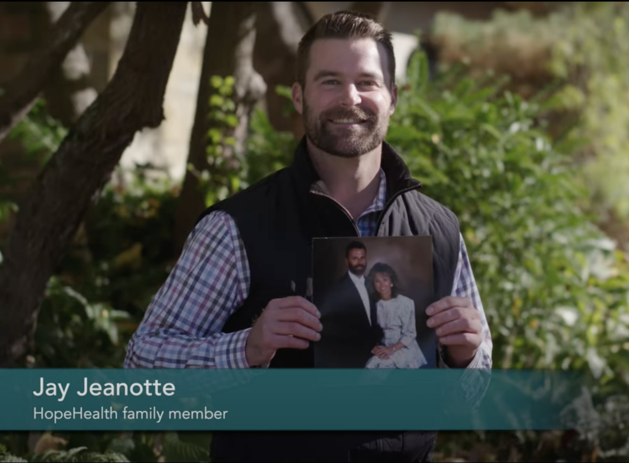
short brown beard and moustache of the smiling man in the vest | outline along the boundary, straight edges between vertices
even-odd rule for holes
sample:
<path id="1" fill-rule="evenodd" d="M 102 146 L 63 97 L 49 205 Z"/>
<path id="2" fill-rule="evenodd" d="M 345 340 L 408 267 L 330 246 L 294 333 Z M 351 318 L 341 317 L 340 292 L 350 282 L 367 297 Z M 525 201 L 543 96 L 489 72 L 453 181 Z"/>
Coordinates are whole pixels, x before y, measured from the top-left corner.
<path id="1" fill-rule="evenodd" d="M 331 120 L 354 119 L 364 121 L 360 125 L 343 127 Z M 334 108 L 318 117 L 304 101 L 304 128 L 306 136 L 320 150 L 333 156 L 353 158 L 376 149 L 386 137 L 389 119 L 360 108 Z"/>

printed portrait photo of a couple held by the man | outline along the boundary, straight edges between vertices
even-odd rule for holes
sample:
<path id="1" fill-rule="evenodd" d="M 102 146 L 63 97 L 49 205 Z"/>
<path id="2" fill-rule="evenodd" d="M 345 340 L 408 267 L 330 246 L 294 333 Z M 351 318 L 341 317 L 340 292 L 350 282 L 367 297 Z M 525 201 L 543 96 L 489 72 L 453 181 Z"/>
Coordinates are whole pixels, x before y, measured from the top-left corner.
<path id="1" fill-rule="evenodd" d="M 412 369 L 436 364 L 430 237 L 323 238 L 313 245 L 321 368 Z"/>

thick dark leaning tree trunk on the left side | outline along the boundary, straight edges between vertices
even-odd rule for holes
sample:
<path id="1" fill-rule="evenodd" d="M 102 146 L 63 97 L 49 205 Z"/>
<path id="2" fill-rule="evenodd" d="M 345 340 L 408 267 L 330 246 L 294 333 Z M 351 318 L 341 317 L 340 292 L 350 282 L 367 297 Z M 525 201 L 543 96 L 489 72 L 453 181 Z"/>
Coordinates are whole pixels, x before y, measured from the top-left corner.
<path id="1" fill-rule="evenodd" d="M 162 104 L 187 2 L 138 2 L 116 74 L 58 148 L 21 204 L 0 267 L 0 367 L 30 347 L 45 288 L 87 208 L 135 133 Z"/>

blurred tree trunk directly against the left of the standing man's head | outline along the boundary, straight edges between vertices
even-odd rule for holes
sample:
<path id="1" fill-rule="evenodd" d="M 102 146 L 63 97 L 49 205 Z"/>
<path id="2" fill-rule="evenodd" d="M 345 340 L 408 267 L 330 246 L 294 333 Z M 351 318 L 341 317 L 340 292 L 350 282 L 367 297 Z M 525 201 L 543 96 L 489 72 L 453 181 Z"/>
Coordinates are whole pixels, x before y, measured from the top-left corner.
<path id="1" fill-rule="evenodd" d="M 296 138 L 304 133 L 298 113 L 287 116 L 291 104 L 276 93 L 277 86 L 292 86 L 296 77 L 297 47 L 305 31 L 298 17 L 296 2 L 260 2 L 257 33 L 264 37 L 255 43 L 253 64 L 269 87 L 266 94 L 267 116 L 276 130 L 291 131 Z M 309 26 L 309 25 L 308 25 Z"/>

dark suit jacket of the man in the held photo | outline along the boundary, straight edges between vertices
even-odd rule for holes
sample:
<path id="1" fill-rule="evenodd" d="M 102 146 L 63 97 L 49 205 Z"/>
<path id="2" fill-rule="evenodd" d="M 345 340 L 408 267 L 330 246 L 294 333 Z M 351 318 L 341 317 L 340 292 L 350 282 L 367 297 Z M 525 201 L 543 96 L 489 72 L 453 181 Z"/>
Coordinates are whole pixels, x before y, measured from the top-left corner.
<path id="1" fill-rule="evenodd" d="M 370 300 L 371 320 L 348 274 L 315 300 L 321 312 L 321 340 L 315 346 L 315 367 L 364 368 L 377 336 L 376 304 Z"/>

